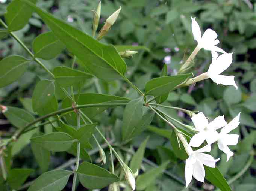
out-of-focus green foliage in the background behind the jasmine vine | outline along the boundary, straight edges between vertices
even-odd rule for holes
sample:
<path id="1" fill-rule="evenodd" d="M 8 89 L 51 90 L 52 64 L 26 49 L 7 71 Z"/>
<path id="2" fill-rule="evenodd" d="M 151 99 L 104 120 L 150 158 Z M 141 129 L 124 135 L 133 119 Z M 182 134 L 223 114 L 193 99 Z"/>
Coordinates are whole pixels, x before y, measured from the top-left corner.
<path id="1" fill-rule="evenodd" d="M 0 4 L 0 16 L 6 11 L 5 4 Z M 97 7 L 95 0 L 61 0 L 53 1 L 39 0 L 37 6 L 46 9 L 58 18 L 67 21 L 76 28 L 92 34 L 91 10 Z M 197 21 L 204 31 L 212 28 L 218 34 L 220 47 L 226 52 L 233 53 L 233 63 L 226 70 L 226 74 L 235 75 L 238 91 L 235 88 L 214 84 L 211 80 L 199 82 L 195 87 L 182 88 L 172 91 L 166 105 L 179 106 L 190 110 L 204 112 L 209 118 L 225 114 L 227 121 L 234 118 L 241 112 L 241 125 L 234 130 L 234 133 L 241 135 L 238 145 L 231 147 L 235 151 L 234 157 L 226 163 L 226 157 L 221 156 L 218 167 L 227 180 L 241 172 L 241 169 L 248 161 L 250 152 L 255 152 L 256 138 L 256 3 L 247 0 L 216 0 L 216 1 L 191 1 L 191 0 L 103 0 L 100 26 L 102 27 L 109 15 L 119 6 L 122 6 L 120 16 L 111 28 L 111 31 L 101 41 L 113 45 L 133 45 L 128 49 L 140 48 L 139 53 L 131 59 L 126 59 L 127 76 L 132 79 L 141 90 L 145 83 L 151 78 L 161 75 L 164 63 L 168 63 L 168 75 L 175 74 L 180 67 L 180 63 L 190 55 L 196 42 L 191 31 L 191 19 L 197 17 Z M 23 29 L 14 32 L 30 49 L 33 40 L 41 33 L 48 31 L 46 25 L 36 13 L 33 13 Z M 202 31 L 202 32 L 203 32 Z M 8 55 L 23 55 L 27 57 L 24 49 L 11 37 L 1 40 L 0 57 Z M 170 63 L 169 63 L 170 62 Z M 205 72 L 211 63 L 211 52 L 201 50 L 194 60 L 192 72 L 195 76 Z M 43 60 L 45 66 L 52 70 L 56 66 L 68 66 L 72 64 L 71 55 L 67 51 L 62 51 L 58 57 L 52 60 Z M 76 64 L 76 69 L 84 71 L 83 65 Z M 35 85 L 41 79 L 47 79 L 48 74 L 35 63 L 29 64 L 29 70 L 16 82 L 5 88 L 0 88 L 0 102 L 3 105 L 21 107 L 33 113 L 32 93 Z M 94 81 L 96 81 L 94 83 Z M 96 85 L 95 85 L 96 84 Z M 100 79 L 90 79 L 83 87 L 83 93 L 104 93 L 116 96 L 124 96 L 135 99 L 138 93 L 123 81 L 105 82 Z M 65 95 L 61 91 L 57 94 L 58 99 Z M 115 134 L 115 142 L 121 142 L 120 128 L 123 120 L 123 107 L 108 110 L 102 115 L 97 115 L 94 120 L 100 124 L 105 134 L 111 137 Z M 166 110 L 173 118 L 190 123 L 184 119 L 184 113 Z M 5 120 L 1 114 L 1 134 L 8 134 L 14 128 Z M 161 188 L 163 191 L 182 190 L 184 186 L 179 183 L 179 179 L 184 177 L 184 163 L 177 160 L 171 148 L 170 142 L 161 132 L 156 132 L 154 127 L 169 129 L 158 117 L 154 117 L 151 126 L 140 136 L 135 137 L 132 145 L 138 148 L 147 136 L 150 139 L 147 143 L 145 157 L 160 165 L 165 160 L 171 160 L 170 170 L 165 172 L 155 181 L 154 186 L 149 186 L 147 191 Z M 52 127 L 45 125 L 42 127 L 45 132 L 51 132 Z M 36 169 L 30 176 L 30 180 L 41 174 L 38 164 L 32 155 L 28 139 L 35 131 L 21 137 L 12 148 L 14 155 L 13 167 L 29 167 Z M 168 136 L 167 136 L 168 137 Z M 100 138 L 99 138 L 100 139 Z M 254 144 L 254 146 L 253 146 Z M 93 145 L 95 148 L 96 145 Z M 220 155 L 217 145 L 211 153 L 215 158 Z M 91 156 L 94 160 L 98 158 L 98 153 Z M 124 155 L 129 158 L 129 155 Z M 51 156 L 50 169 L 53 169 L 64 161 L 72 158 L 71 155 L 56 153 Z M 93 161 L 94 161 L 93 160 Z M 255 173 L 256 160 L 250 164 L 248 170 L 241 178 L 232 182 L 235 191 L 256 190 Z M 145 169 L 151 168 L 147 163 Z M 169 173 L 169 174 L 168 174 Z M 172 176 L 175 176 L 173 178 Z M 177 181 L 178 180 L 178 181 Z M 194 184 L 198 188 L 201 184 Z M 70 184 L 65 189 L 69 190 Z M 209 184 L 204 184 L 205 190 L 210 190 Z M 128 190 L 128 188 L 126 188 Z"/>

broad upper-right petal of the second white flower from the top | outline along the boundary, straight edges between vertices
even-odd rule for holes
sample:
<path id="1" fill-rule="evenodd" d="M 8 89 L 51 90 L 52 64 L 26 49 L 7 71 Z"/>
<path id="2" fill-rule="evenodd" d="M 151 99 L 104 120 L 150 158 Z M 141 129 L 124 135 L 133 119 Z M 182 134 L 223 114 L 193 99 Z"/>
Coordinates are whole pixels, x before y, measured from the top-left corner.
<path id="1" fill-rule="evenodd" d="M 225 53 L 218 56 L 218 58 L 212 62 L 211 67 L 209 67 L 208 69 L 208 72 L 214 73 L 214 74 L 222 73 L 232 63 L 232 60 L 233 60 L 232 54 L 233 53 Z"/>

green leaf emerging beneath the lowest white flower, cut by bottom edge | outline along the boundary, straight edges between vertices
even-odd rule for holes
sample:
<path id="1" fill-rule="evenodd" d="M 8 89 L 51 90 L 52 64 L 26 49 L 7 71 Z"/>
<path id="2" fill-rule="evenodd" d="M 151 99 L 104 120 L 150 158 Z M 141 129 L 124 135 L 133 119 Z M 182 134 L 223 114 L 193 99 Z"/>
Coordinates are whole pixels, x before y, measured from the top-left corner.
<path id="1" fill-rule="evenodd" d="M 216 187 L 220 188 L 221 191 L 231 191 L 229 184 L 221 174 L 220 170 L 215 167 L 211 168 L 204 165 L 205 178 Z"/>

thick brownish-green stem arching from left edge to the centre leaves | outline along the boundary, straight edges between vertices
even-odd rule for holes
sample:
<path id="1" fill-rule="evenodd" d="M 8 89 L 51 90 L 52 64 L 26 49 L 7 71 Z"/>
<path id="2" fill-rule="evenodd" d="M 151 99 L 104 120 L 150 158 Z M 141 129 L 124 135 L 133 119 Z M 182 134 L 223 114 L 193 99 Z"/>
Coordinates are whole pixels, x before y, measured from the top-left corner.
<path id="1" fill-rule="evenodd" d="M 88 107 L 114 107 L 114 106 L 124 106 L 126 105 L 127 103 L 95 103 L 95 104 L 85 104 L 85 105 L 79 105 L 79 106 L 75 106 L 75 107 L 67 107 L 65 109 L 60 109 L 56 112 L 52 112 L 52 113 L 48 113 L 47 115 L 44 115 L 42 117 L 39 117 L 37 118 L 36 120 L 28 123 L 26 126 L 24 126 L 23 128 L 19 128 L 15 133 L 14 135 L 12 136 L 12 139 L 9 139 L 7 142 L 6 142 L 6 145 L 8 145 L 10 142 L 12 142 L 13 140 L 16 140 L 23 132 L 24 130 L 26 130 L 26 128 L 36 124 L 37 122 L 39 121 L 42 121 L 44 119 L 47 119 L 51 116 L 55 116 L 55 115 L 58 115 L 60 113 L 65 113 L 65 112 L 69 112 L 69 111 L 72 111 L 72 110 L 75 110 L 75 109 L 82 109 L 82 108 L 88 108 Z"/>

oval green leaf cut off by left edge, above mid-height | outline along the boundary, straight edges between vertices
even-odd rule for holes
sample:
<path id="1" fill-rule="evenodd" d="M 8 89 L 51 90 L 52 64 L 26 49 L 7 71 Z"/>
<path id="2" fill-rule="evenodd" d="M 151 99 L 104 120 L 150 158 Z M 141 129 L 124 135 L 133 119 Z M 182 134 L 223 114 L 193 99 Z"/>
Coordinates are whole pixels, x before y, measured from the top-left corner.
<path id="1" fill-rule="evenodd" d="M 0 61 L 0 88 L 19 79 L 27 70 L 27 60 L 21 56 L 9 56 Z"/>

